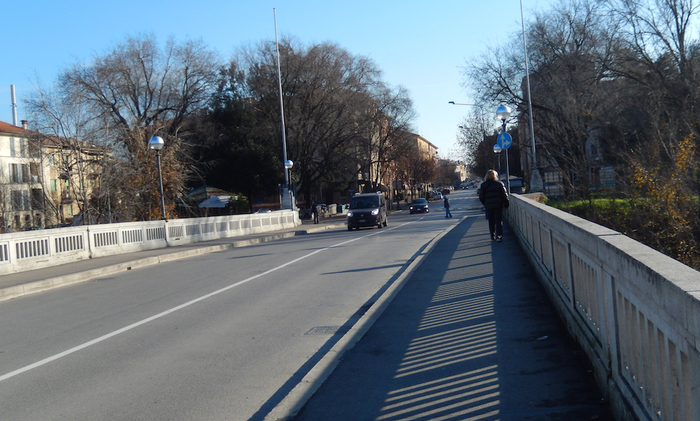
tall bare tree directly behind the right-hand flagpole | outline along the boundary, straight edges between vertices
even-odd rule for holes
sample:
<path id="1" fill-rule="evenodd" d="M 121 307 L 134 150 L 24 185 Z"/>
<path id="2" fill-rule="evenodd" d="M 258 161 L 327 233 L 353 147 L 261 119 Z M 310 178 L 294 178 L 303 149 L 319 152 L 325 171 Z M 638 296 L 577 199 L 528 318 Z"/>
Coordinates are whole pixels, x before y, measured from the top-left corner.
<path id="1" fill-rule="evenodd" d="M 617 67 L 618 29 L 603 3 L 584 0 L 560 1 L 528 24 L 538 166 L 561 174 L 569 193 L 589 193 L 587 141 L 624 96 L 626 85 L 610 70 Z M 521 35 L 469 64 L 465 76 L 482 101 L 517 104 L 520 121 L 528 120 Z"/>

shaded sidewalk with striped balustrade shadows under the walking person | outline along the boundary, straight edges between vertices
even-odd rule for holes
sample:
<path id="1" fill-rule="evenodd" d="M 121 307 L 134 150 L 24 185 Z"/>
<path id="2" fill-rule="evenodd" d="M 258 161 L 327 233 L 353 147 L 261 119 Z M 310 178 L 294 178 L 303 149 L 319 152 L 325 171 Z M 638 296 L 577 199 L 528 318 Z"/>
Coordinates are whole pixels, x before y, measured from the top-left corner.
<path id="1" fill-rule="evenodd" d="M 474 209 L 293 420 L 614 419 L 516 238 Z"/>

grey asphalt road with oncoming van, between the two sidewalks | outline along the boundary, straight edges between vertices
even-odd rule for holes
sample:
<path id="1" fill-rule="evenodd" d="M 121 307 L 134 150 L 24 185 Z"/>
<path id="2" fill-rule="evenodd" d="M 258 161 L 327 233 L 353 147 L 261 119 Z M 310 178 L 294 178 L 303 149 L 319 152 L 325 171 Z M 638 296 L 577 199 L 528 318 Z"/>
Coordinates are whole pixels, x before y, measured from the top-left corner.
<path id="1" fill-rule="evenodd" d="M 0 418 L 262 420 L 462 200 L 0 302 Z"/>

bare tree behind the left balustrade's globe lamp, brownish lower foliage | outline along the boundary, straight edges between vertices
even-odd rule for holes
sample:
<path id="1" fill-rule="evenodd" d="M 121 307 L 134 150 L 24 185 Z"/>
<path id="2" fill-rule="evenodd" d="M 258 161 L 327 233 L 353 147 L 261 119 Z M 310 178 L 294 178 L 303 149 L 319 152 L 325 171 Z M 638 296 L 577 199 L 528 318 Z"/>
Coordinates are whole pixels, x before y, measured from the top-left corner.
<path id="1" fill-rule="evenodd" d="M 73 104 L 73 110 L 78 109 L 71 117 L 75 124 L 63 123 L 65 113 L 52 115 L 48 108 L 43 112 L 57 122 L 59 136 L 106 145 L 117 160 L 111 164 L 120 164 L 112 165 L 110 180 L 101 183 L 111 186 L 110 193 L 102 194 L 111 197 L 112 206 L 121 205 L 125 220 L 150 219 L 158 214 L 153 209 L 158 209 L 160 198 L 158 176 L 153 176 L 155 154 L 148 151 L 148 141 L 156 134 L 165 138 L 162 168 L 169 176 L 164 173 L 163 183 L 172 207 L 190 171 L 183 124 L 211 99 L 220 67 L 216 54 L 201 41 L 179 44 L 170 39 L 161 49 L 152 35 L 130 37 L 59 76 L 55 104 Z M 83 124 L 99 127 L 90 134 L 102 138 L 85 136 Z M 115 197 L 119 192 L 123 195 Z"/>

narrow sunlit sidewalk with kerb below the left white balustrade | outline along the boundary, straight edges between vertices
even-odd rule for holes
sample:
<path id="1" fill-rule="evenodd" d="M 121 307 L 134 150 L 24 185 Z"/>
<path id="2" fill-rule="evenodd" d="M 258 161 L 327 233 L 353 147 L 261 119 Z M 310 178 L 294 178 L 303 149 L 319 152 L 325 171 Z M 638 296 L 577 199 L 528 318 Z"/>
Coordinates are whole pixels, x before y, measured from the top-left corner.
<path id="1" fill-rule="evenodd" d="M 157 248 L 141 252 L 125 253 L 96 259 L 85 259 L 79 262 L 51 266 L 34 271 L 9 273 L 0 276 L 0 301 L 21 297 L 25 294 L 50 290 L 51 288 L 70 285 L 108 276 L 112 273 L 128 271 L 151 264 L 170 262 L 210 252 L 225 250 L 228 248 L 244 247 L 246 245 L 274 241 L 279 238 L 287 238 L 325 231 L 325 229 L 339 229 L 345 227 L 344 215 L 321 218 L 319 224 L 311 220 L 302 220 L 300 226 L 279 231 L 269 231 L 248 236 L 221 238 L 213 241 L 202 241 L 178 245 L 175 247 Z"/>

